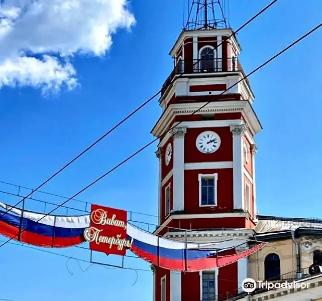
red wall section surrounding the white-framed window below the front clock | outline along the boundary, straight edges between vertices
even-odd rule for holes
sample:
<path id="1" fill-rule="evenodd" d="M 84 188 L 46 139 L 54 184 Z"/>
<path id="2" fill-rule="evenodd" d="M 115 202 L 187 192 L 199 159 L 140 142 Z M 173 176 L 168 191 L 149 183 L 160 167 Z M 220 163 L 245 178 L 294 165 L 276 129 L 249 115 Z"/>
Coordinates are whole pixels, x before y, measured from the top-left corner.
<path id="1" fill-rule="evenodd" d="M 199 207 L 199 174 L 218 174 L 217 206 Z M 184 213 L 228 212 L 234 208 L 233 169 L 185 170 Z"/>

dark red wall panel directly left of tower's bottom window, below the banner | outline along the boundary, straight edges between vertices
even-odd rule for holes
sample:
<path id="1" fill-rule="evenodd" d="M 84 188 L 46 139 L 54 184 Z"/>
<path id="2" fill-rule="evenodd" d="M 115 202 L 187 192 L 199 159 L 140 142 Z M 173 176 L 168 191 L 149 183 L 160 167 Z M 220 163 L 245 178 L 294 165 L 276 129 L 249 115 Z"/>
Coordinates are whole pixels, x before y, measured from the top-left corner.
<path id="1" fill-rule="evenodd" d="M 181 272 L 181 300 L 200 301 L 199 272 Z"/>

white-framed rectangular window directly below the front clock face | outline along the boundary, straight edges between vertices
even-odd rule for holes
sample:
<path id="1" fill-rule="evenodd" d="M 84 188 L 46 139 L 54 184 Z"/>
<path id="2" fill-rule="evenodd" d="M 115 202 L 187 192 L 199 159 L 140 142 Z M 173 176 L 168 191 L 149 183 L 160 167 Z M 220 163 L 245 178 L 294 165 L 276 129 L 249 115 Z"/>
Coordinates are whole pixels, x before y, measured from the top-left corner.
<path id="1" fill-rule="evenodd" d="M 199 175 L 199 205 L 217 206 L 218 175 Z"/>

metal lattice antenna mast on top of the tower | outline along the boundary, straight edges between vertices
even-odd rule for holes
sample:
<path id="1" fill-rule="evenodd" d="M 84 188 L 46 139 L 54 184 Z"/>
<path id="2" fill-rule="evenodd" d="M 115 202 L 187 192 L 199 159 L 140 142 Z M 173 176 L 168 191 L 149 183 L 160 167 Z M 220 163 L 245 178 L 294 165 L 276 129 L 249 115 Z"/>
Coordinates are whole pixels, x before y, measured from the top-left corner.
<path id="1" fill-rule="evenodd" d="M 228 0 L 192 0 L 184 30 L 228 28 L 224 1 Z"/>

